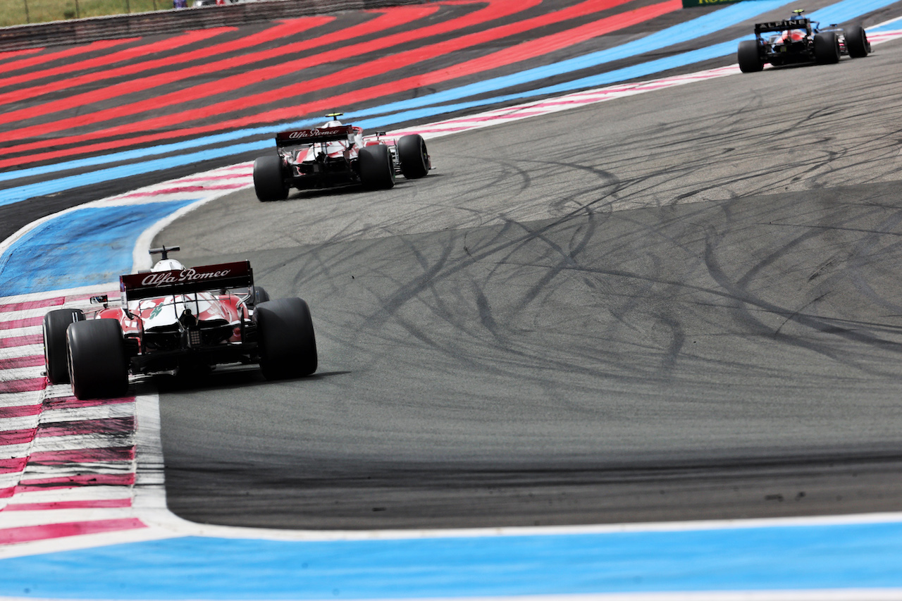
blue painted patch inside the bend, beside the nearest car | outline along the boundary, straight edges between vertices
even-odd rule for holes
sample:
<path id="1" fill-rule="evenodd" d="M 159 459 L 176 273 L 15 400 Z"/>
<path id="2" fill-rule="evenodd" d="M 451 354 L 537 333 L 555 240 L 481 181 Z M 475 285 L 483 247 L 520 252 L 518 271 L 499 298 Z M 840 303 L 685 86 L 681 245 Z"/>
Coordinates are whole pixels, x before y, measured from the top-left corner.
<path id="1" fill-rule="evenodd" d="M 117 282 L 132 272 L 138 236 L 196 199 L 86 207 L 54 217 L 0 257 L 0 295 Z"/>

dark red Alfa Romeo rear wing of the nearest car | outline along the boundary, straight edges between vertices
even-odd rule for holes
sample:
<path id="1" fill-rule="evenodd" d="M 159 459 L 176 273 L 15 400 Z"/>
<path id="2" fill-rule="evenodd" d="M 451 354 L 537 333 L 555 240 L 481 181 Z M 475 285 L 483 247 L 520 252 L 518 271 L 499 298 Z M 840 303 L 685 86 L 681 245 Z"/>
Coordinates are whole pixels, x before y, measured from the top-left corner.
<path id="1" fill-rule="evenodd" d="M 170 294 L 250 286 L 253 286 L 253 270 L 248 261 L 200 265 L 171 272 L 132 273 L 119 276 L 119 290 L 123 302 Z"/>

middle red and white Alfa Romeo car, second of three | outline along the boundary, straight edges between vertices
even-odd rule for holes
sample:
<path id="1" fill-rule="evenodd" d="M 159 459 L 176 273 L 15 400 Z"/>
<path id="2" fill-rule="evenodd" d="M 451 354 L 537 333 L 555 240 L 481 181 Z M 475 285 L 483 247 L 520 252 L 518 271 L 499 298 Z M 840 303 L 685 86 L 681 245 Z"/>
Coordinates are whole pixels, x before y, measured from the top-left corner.
<path id="1" fill-rule="evenodd" d="M 341 113 L 330 114 L 322 127 L 276 134 L 275 155 L 253 162 L 258 199 L 287 199 L 291 188 L 363 184 L 370 190 L 388 190 L 397 174 L 416 180 L 432 168 L 421 135 L 402 135 L 395 141 L 378 132 L 375 138 L 364 138 L 363 128 L 343 125 L 338 116 Z"/>

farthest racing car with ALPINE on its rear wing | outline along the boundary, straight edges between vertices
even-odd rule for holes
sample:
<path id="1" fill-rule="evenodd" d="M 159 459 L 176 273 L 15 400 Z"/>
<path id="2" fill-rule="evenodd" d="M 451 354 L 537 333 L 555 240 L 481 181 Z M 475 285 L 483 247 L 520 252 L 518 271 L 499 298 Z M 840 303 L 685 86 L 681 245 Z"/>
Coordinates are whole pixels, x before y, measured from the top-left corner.
<path id="1" fill-rule="evenodd" d="M 764 69 L 766 63 L 785 65 L 831 64 L 844 54 L 860 59 L 870 53 L 868 35 L 861 26 L 820 28 L 820 23 L 793 11 L 785 21 L 757 23 L 755 39 L 739 42 L 739 68 L 743 73 Z"/>

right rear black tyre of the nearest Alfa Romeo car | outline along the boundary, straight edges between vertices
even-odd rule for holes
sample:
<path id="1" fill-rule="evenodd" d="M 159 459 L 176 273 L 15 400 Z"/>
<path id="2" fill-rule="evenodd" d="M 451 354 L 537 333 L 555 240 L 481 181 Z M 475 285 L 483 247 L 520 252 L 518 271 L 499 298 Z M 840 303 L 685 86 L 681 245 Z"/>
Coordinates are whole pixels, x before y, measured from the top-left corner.
<path id="1" fill-rule="evenodd" d="M 317 338 L 307 302 L 298 298 L 262 302 L 253 311 L 253 321 L 267 380 L 317 371 Z"/>

